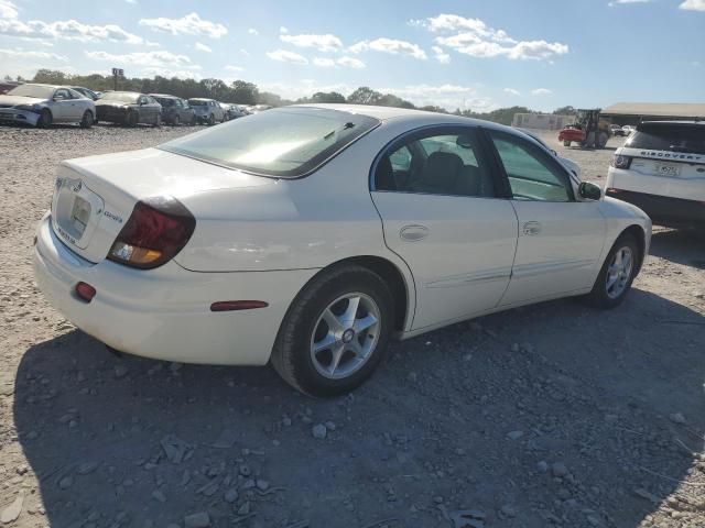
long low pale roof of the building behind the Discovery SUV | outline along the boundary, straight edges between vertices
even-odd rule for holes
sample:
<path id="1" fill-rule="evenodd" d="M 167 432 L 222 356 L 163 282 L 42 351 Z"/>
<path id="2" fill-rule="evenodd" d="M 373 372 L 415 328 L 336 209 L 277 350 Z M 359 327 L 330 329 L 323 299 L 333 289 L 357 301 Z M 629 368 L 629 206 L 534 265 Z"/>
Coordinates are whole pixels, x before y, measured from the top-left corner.
<path id="1" fill-rule="evenodd" d="M 600 112 L 616 124 L 641 121 L 705 120 L 705 103 L 698 102 L 618 102 Z"/>

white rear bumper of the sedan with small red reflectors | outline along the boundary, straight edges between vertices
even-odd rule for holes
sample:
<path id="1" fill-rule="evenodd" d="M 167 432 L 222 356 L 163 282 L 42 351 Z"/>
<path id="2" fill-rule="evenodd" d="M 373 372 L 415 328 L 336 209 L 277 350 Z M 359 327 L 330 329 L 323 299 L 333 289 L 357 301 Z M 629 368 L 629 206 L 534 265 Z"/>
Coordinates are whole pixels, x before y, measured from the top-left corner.
<path id="1" fill-rule="evenodd" d="M 54 234 L 48 213 L 36 231 L 34 276 L 48 301 L 86 333 L 122 352 L 159 360 L 263 365 L 291 300 L 315 271 L 197 273 L 175 262 L 151 271 L 93 264 Z M 78 282 L 96 288 L 90 302 Z M 242 311 L 210 311 L 218 300 L 264 300 Z"/>

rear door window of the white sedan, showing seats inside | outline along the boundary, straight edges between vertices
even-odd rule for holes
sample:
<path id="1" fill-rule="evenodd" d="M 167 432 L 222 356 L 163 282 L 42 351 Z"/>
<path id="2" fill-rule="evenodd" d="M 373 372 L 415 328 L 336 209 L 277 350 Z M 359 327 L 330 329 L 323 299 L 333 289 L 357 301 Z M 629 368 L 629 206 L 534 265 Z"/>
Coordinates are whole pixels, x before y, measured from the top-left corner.
<path id="1" fill-rule="evenodd" d="M 412 134 L 377 163 L 375 189 L 430 195 L 494 197 L 495 185 L 473 129 Z"/>

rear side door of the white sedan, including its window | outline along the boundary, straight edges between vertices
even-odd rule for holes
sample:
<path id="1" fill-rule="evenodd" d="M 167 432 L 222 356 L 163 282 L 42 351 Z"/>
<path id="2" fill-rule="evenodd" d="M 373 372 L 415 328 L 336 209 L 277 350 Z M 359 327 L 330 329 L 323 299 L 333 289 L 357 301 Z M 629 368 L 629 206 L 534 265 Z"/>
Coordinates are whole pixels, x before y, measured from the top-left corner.
<path id="1" fill-rule="evenodd" d="M 485 152 L 475 128 L 434 127 L 376 161 L 371 195 L 384 241 L 414 278 L 413 329 L 489 310 L 507 288 L 517 216 Z"/>

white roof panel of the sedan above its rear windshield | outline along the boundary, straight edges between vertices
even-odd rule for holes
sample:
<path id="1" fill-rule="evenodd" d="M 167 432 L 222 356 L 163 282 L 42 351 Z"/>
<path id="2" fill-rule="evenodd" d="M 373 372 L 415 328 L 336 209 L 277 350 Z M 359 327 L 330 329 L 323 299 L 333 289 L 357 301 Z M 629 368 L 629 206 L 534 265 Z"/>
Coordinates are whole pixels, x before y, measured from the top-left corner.
<path id="1" fill-rule="evenodd" d="M 495 123 L 492 121 L 485 121 L 482 119 L 466 118 L 465 116 L 454 116 L 452 113 L 438 113 L 429 112 L 425 110 L 412 110 L 409 108 L 397 107 L 376 107 L 372 105 L 336 105 L 336 103 L 308 103 L 308 105 L 294 105 L 294 107 L 308 107 L 308 108 L 326 108 L 330 110 L 338 110 L 340 112 L 356 113 L 359 116 L 367 116 L 380 121 L 387 121 L 389 119 L 408 119 L 410 121 L 419 120 L 425 124 L 464 124 L 485 127 L 487 129 L 501 130 L 505 132 L 517 133 L 516 129 L 506 127 L 503 124 Z M 435 123 L 434 123 L 435 121 Z"/>

